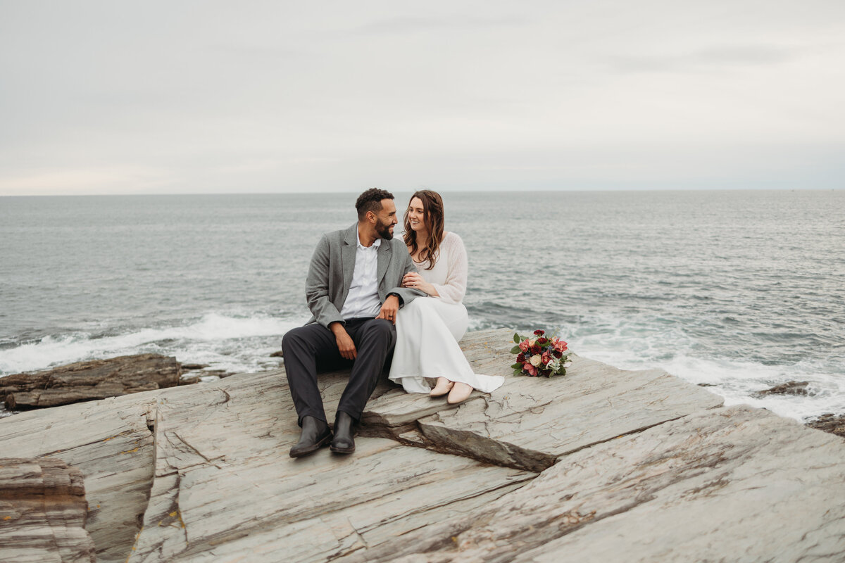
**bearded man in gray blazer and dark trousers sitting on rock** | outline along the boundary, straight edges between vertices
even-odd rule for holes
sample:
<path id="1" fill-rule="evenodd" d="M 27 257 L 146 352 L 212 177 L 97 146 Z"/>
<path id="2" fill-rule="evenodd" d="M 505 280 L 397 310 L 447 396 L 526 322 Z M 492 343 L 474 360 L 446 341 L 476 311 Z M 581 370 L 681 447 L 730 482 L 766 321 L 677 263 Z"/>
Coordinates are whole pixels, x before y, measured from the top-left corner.
<path id="1" fill-rule="evenodd" d="M 311 257 L 305 296 L 313 317 L 304 327 L 288 331 L 281 342 L 303 429 L 291 457 L 314 452 L 330 440 L 332 452 L 355 451 L 352 426 L 361 419 L 396 343 L 397 311 L 425 295 L 400 287 L 402 276 L 417 268 L 404 243 L 393 240 L 398 222 L 393 194 L 369 189 L 358 197 L 355 208 L 358 222 L 323 235 Z M 317 368 L 342 360 L 352 360 L 352 372 L 337 404 L 332 439 Z"/>

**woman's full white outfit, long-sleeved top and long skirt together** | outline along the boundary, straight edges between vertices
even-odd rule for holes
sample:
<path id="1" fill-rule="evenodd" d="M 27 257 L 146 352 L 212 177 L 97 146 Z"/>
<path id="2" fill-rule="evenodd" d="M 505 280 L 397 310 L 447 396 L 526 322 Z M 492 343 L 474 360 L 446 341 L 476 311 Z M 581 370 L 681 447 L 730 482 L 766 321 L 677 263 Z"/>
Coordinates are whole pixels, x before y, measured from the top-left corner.
<path id="1" fill-rule="evenodd" d="M 502 376 L 482 376 L 472 372 L 458 341 L 469 324 L 461 300 L 466 293 L 466 249 L 461 237 L 446 233 L 440 243 L 434 268 L 428 262 L 417 269 L 439 297 L 417 297 L 403 306 L 396 316 L 396 347 L 390 365 L 390 380 L 406 392 L 431 391 L 428 379 L 443 376 L 464 382 L 482 392 L 491 392 L 504 383 Z"/>

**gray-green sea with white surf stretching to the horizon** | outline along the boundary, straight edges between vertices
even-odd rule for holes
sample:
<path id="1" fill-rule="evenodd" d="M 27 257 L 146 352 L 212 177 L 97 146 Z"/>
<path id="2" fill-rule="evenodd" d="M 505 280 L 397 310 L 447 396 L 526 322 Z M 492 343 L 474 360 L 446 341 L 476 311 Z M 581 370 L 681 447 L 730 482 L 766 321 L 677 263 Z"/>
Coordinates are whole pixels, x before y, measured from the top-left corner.
<path id="1" fill-rule="evenodd" d="M 356 195 L 0 198 L 0 376 L 142 352 L 274 369 L 308 319 L 313 246 L 352 225 Z M 845 192 L 444 202 L 471 330 L 559 329 L 579 355 L 660 367 L 728 404 L 845 413 Z M 809 394 L 752 397 L 792 380 Z"/>

